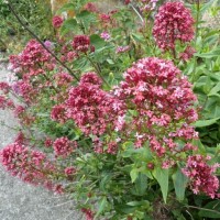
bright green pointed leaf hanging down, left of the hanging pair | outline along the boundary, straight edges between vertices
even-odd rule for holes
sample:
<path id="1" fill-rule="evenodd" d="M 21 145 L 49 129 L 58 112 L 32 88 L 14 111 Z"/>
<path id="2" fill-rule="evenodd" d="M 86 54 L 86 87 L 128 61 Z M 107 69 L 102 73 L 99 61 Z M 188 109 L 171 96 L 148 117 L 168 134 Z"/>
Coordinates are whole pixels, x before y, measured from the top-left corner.
<path id="1" fill-rule="evenodd" d="M 156 167 L 153 170 L 153 176 L 161 186 L 163 199 L 166 204 L 166 198 L 167 198 L 167 194 L 168 194 L 168 169 L 162 169 L 161 167 Z"/>

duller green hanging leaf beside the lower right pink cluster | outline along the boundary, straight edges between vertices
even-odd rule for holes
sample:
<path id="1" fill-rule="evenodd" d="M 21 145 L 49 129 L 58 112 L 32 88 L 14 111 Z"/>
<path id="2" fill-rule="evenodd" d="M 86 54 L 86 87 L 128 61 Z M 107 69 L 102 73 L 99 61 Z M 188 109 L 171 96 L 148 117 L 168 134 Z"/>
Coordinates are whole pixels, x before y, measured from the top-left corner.
<path id="1" fill-rule="evenodd" d="M 186 190 L 188 178 L 182 173 L 180 167 L 177 168 L 177 170 L 174 173 L 172 178 L 174 182 L 176 197 L 178 200 L 182 201 L 184 200 L 184 197 L 185 197 L 185 190 Z"/>

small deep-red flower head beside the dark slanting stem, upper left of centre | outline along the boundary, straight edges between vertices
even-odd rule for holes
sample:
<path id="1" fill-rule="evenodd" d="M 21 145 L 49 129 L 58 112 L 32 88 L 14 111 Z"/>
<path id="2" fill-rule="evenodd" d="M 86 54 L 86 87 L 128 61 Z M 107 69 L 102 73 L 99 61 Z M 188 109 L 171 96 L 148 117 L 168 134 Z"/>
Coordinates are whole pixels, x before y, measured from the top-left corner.
<path id="1" fill-rule="evenodd" d="M 72 45 L 77 52 L 86 53 L 90 48 L 90 38 L 87 35 L 76 35 Z"/>

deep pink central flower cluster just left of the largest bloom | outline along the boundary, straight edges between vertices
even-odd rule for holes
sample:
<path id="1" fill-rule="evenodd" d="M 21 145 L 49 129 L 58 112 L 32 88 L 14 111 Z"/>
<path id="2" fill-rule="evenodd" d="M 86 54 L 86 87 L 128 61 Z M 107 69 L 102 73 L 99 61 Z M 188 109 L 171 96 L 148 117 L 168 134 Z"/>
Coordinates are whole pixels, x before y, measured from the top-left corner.
<path id="1" fill-rule="evenodd" d="M 123 114 L 123 103 L 102 90 L 100 79 L 90 73 L 69 90 L 67 114 L 87 135 L 100 135 L 110 127 L 114 129 L 118 117 Z"/>

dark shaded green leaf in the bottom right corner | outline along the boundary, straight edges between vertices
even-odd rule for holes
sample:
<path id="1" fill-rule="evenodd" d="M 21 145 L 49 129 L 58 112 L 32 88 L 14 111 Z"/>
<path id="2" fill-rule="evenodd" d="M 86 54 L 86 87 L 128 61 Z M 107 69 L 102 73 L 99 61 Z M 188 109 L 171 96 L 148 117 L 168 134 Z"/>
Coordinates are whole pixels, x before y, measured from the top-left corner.
<path id="1" fill-rule="evenodd" d="M 199 211 L 200 217 L 207 217 L 209 219 L 220 219 L 220 200 L 210 201 L 202 208 Z"/>

